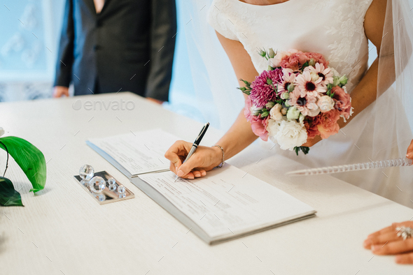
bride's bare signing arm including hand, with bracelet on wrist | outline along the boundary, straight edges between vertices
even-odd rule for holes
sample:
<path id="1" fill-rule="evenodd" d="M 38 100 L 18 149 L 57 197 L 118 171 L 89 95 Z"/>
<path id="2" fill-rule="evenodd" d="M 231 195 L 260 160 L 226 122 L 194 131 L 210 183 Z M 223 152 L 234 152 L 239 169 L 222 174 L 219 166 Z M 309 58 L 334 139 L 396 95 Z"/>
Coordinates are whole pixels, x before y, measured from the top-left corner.
<path id="1" fill-rule="evenodd" d="M 221 36 L 218 32 L 216 34 L 230 58 L 237 78 L 252 82 L 258 73 L 253 66 L 251 57 L 244 49 L 244 46 L 238 41 Z M 239 85 L 244 86 L 244 83 L 239 81 Z M 238 154 L 239 151 L 242 151 L 256 139 L 257 136 L 251 130 L 251 124 L 246 121 L 244 111 L 241 110 L 230 130 L 228 130 L 216 144 L 223 147 L 225 159 L 228 159 Z M 221 149 L 218 147 L 198 147 L 197 151 L 189 161 L 182 165 L 191 146 L 192 143 L 180 140 L 172 145 L 165 154 L 165 157 L 171 161 L 170 168 L 172 172 L 178 174 L 179 177 L 188 179 L 202 177 L 207 174 L 207 171 L 221 163 Z"/>

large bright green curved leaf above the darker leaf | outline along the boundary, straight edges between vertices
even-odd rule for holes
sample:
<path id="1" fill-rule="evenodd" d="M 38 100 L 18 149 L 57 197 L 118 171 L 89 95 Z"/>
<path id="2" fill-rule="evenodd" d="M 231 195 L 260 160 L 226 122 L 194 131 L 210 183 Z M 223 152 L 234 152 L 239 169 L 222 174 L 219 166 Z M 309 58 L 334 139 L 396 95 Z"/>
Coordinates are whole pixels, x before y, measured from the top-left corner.
<path id="1" fill-rule="evenodd" d="M 25 172 L 34 193 L 43 190 L 46 183 L 46 162 L 43 153 L 33 144 L 20 137 L 1 137 L 0 142 L 6 145 L 8 153 Z M 0 148 L 5 149 L 0 143 Z"/>

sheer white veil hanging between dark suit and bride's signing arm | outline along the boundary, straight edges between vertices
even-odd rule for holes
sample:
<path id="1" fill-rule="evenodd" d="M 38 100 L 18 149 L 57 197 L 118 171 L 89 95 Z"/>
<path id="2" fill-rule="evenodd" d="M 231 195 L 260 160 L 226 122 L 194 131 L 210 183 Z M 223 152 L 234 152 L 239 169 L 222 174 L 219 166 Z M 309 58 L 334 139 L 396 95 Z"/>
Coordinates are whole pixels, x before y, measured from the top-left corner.
<path id="1" fill-rule="evenodd" d="M 228 128 L 244 107 L 244 97 L 236 89 L 237 78 L 214 29 L 207 22 L 212 0 L 183 3 L 183 14 L 190 15 L 185 26 L 190 67 L 197 109 L 211 126 Z"/>

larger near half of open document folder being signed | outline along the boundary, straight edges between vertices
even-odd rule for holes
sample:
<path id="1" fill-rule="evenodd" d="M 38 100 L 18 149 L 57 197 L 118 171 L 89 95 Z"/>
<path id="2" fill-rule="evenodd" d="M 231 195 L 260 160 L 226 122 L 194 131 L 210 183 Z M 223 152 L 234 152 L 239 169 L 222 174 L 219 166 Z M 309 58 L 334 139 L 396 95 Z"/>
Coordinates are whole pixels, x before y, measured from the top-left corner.
<path id="1" fill-rule="evenodd" d="M 304 202 L 231 165 L 192 180 L 174 182 L 172 172 L 141 174 L 131 180 L 209 244 L 316 213 Z"/>

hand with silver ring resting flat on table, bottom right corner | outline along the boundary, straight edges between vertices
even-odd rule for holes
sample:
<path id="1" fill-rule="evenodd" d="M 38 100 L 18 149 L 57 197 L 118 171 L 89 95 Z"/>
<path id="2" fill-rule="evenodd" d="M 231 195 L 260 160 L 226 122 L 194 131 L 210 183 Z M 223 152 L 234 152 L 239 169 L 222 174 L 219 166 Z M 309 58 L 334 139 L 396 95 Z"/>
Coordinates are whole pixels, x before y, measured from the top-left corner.
<path id="1" fill-rule="evenodd" d="M 413 239 L 403 240 L 398 237 L 396 228 L 404 226 L 413 228 L 413 221 L 393 223 L 387 228 L 368 235 L 363 246 L 371 249 L 376 255 L 396 255 L 395 262 L 398 264 L 413 264 Z"/>

